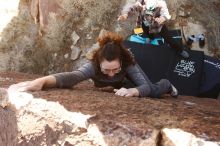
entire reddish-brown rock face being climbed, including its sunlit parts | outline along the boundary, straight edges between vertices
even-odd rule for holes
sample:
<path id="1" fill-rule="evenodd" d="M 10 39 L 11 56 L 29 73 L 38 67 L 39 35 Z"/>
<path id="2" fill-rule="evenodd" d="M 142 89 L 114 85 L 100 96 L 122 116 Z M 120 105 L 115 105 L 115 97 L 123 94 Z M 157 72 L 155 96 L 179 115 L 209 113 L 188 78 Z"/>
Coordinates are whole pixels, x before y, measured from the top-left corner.
<path id="1" fill-rule="evenodd" d="M 0 76 L 4 88 L 36 77 L 20 73 Z M 12 124 L 16 135 L 18 125 L 20 146 L 220 144 L 219 100 L 168 95 L 161 99 L 124 98 L 115 96 L 109 89 L 94 88 L 88 81 L 73 89 L 50 89 L 35 92 L 33 96 L 31 103 L 17 114 L 17 124 L 13 123 L 15 118 L 3 120 L 2 117 L 10 117 L 11 113 L 0 108 L 0 114 L 5 114 L 1 116 L 0 128 Z M 0 133 L 3 134 L 2 130 Z"/>

